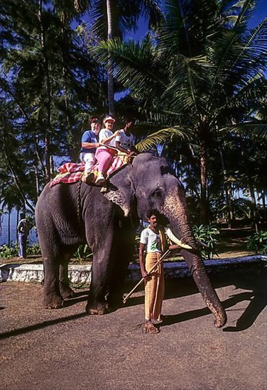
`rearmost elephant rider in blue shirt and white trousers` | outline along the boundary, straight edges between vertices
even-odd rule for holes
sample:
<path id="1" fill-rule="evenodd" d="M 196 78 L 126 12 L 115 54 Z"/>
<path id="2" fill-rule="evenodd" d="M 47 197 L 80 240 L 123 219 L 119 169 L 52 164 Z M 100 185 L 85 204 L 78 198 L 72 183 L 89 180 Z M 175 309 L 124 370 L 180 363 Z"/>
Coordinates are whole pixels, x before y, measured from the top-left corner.
<path id="1" fill-rule="evenodd" d="M 101 121 L 99 118 L 92 118 L 91 130 L 86 130 L 82 134 L 82 148 L 80 160 L 85 162 L 85 181 L 92 171 L 92 167 L 97 162 L 94 157 L 97 147 L 99 147 L 99 131 L 101 128 Z"/>

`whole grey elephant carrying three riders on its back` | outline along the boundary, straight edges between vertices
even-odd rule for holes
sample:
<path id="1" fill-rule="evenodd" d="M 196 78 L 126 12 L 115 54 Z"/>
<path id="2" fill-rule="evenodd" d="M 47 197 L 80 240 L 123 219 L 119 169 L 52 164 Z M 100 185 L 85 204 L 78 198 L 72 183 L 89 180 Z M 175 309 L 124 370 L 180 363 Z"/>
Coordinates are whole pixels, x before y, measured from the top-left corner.
<path id="1" fill-rule="evenodd" d="M 68 262 L 81 244 L 93 252 L 88 314 L 104 314 L 122 302 L 123 284 L 140 219 L 157 209 L 173 233 L 197 248 L 190 226 L 185 190 L 165 157 L 143 152 L 109 178 L 107 191 L 84 182 L 45 186 L 36 204 L 36 228 L 44 264 L 43 306 L 61 308 L 73 295 Z M 227 316 L 207 275 L 200 252 L 182 248 L 214 326 Z"/>

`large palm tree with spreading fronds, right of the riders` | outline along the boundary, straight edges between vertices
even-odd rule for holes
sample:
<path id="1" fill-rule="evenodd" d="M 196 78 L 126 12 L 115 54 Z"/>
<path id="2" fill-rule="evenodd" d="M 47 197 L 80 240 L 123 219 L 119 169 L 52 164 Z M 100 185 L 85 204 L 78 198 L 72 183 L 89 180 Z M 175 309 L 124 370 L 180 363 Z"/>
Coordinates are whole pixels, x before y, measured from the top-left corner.
<path id="1" fill-rule="evenodd" d="M 254 1 L 164 1 L 156 37 L 143 43 L 119 39 L 93 48 L 161 130 L 143 140 L 187 138 L 200 183 L 202 223 L 207 222 L 209 158 L 231 132 L 266 127 L 254 113 L 266 96 L 267 18 L 248 30 Z"/>

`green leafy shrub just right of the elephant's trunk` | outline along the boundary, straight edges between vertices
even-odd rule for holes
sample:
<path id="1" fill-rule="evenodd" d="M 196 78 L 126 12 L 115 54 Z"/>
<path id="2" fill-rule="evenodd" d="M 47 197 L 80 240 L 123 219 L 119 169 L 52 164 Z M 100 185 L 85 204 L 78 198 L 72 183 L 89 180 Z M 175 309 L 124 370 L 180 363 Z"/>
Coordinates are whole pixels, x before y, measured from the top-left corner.
<path id="1" fill-rule="evenodd" d="M 215 250 L 216 245 L 218 243 L 217 235 L 219 234 L 219 230 L 217 230 L 214 225 L 194 225 L 192 227 L 193 233 L 195 235 L 195 239 L 198 241 L 202 241 L 207 247 L 203 247 L 200 245 L 200 252 L 204 259 L 212 259 L 214 255 L 217 255 L 217 251 Z"/>

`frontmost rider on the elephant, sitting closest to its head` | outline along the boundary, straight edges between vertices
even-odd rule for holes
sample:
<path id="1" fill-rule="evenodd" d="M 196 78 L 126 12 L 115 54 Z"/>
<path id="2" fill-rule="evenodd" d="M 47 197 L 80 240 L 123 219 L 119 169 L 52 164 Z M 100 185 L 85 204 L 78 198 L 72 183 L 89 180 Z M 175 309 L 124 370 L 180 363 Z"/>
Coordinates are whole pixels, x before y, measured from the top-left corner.
<path id="1" fill-rule="evenodd" d="M 138 150 L 134 147 L 135 137 L 132 133 L 133 121 L 126 119 L 125 126 L 119 130 L 116 136 L 116 148 L 119 150 L 118 156 L 123 162 L 130 162 L 131 156 L 136 155 Z"/>

